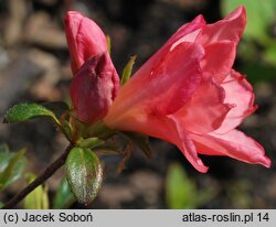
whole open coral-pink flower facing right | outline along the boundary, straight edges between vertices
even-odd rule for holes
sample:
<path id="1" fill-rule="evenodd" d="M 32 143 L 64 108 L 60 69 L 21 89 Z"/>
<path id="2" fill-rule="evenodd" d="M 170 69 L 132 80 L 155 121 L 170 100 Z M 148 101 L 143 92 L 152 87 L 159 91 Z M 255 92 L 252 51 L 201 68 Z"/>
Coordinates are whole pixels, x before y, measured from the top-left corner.
<path id="1" fill-rule="evenodd" d="M 264 149 L 235 129 L 255 109 L 252 86 L 232 69 L 246 24 L 243 7 L 206 24 L 184 24 L 119 90 L 104 122 L 176 144 L 206 172 L 198 154 L 270 166 Z"/>

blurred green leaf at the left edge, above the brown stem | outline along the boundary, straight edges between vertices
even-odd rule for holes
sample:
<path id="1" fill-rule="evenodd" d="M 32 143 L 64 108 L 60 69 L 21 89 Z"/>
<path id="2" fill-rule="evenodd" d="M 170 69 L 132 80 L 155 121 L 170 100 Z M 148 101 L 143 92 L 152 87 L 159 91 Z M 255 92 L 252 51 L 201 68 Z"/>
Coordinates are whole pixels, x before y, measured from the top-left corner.
<path id="1" fill-rule="evenodd" d="M 0 190 L 9 186 L 15 182 L 22 174 L 26 159 L 24 158 L 25 149 L 20 150 L 15 154 L 12 154 L 8 166 L 0 173 Z"/>

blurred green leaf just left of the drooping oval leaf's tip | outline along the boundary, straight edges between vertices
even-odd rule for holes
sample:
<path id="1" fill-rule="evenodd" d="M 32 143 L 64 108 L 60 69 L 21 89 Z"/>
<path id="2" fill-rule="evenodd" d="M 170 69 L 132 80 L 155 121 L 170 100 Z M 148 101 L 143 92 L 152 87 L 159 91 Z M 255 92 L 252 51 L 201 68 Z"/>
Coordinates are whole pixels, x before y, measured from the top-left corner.
<path id="1" fill-rule="evenodd" d="M 67 209 L 76 201 L 66 179 L 63 179 L 54 196 L 54 209 Z"/>

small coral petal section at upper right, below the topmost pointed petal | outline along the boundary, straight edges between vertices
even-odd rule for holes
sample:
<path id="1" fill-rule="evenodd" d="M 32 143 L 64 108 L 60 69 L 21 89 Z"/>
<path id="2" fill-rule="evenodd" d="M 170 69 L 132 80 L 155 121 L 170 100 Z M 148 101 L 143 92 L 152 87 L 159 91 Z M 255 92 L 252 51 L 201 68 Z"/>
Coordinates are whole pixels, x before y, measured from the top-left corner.
<path id="1" fill-rule="evenodd" d="M 204 50 L 205 56 L 201 62 L 202 71 L 214 76 L 215 80 L 221 84 L 232 69 L 236 44 L 231 41 L 220 41 L 208 44 Z"/>

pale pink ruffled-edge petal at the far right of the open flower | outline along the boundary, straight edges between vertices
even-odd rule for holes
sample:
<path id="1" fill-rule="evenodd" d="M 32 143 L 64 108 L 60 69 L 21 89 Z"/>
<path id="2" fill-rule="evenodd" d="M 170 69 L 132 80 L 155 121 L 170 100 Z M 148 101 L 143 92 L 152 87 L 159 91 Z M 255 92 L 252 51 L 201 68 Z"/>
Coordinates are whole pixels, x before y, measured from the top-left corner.
<path id="1" fill-rule="evenodd" d="M 236 128 L 244 118 L 256 110 L 254 106 L 254 93 L 245 76 L 232 71 L 221 84 L 225 90 L 225 102 L 234 104 L 235 107 L 226 115 L 216 133 L 225 133 Z"/>

